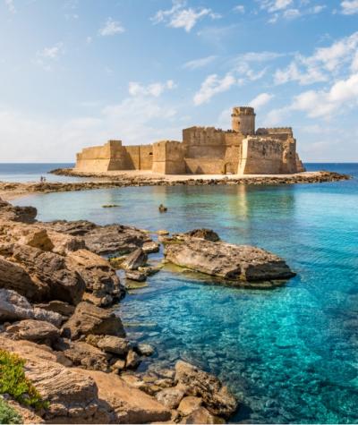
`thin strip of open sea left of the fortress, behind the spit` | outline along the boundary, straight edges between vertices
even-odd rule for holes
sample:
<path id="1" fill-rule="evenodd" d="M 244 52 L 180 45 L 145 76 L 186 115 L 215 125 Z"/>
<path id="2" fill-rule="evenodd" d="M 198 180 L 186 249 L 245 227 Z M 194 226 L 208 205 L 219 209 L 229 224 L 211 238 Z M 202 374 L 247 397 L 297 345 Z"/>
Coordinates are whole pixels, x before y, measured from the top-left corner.
<path id="1" fill-rule="evenodd" d="M 0 163 L 0 182 L 39 182 L 42 176 L 48 182 L 69 182 L 79 180 L 76 177 L 47 174 L 55 168 L 71 168 L 73 164 L 10 164 Z"/>

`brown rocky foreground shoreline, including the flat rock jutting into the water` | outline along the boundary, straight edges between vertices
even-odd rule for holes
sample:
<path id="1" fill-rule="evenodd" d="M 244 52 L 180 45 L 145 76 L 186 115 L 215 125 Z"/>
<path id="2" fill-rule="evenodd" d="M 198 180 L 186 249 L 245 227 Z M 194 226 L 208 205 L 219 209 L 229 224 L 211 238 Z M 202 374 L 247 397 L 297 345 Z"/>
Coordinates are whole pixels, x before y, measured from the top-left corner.
<path id="1" fill-rule="evenodd" d="M 185 361 L 177 361 L 174 370 L 136 371 L 156 348 L 127 339 L 118 302 L 131 279 L 145 280 L 163 267 L 148 264 L 158 242 L 131 226 L 45 223 L 36 217 L 36 208 L 0 199 L 0 344 L 21 356 L 26 377 L 49 405 L 37 412 L 10 397 L 23 420 L 225 423 L 240 402 L 209 373 Z M 163 262 L 230 285 L 273 279 L 282 285 L 294 276 L 277 256 L 221 242 L 208 229 L 158 234 L 165 245 Z M 196 263 L 181 263 L 195 256 Z"/>

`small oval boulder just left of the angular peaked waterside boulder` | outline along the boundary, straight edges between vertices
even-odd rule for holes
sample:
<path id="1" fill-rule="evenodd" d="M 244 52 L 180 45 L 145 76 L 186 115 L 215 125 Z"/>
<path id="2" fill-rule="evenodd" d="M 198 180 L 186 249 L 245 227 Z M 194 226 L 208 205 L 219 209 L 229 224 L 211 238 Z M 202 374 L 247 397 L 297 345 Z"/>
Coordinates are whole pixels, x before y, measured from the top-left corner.
<path id="1" fill-rule="evenodd" d="M 21 320 L 6 327 L 6 332 L 15 336 L 16 339 L 26 339 L 36 343 L 52 342 L 60 336 L 57 327 L 51 323 L 34 319 Z"/>

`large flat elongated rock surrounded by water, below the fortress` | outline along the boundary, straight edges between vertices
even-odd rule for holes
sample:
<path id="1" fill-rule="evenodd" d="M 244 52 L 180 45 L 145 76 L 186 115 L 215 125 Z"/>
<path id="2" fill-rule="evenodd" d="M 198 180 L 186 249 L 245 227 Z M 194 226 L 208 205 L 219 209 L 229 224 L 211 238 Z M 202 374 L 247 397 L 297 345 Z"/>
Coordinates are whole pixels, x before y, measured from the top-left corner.
<path id="1" fill-rule="evenodd" d="M 175 236 L 165 242 L 166 259 L 177 266 L 236 282 L 287 279 L 294 273 L 284 259 L 249 245 Z"/>

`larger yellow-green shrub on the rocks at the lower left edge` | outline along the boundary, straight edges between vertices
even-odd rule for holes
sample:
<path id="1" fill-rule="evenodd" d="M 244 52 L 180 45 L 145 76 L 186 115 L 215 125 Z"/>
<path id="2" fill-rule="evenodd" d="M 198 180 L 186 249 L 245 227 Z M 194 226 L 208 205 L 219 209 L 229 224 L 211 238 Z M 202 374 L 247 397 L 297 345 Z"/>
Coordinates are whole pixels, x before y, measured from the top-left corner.
<path id="1" fill-rule="evenodd" d="M 8 394 L 17 402 L 36 410 L 47 408 L 38 390 L 24 371 L 25 361 L 17 354 L 0 350 L 0 394 Z"/>

